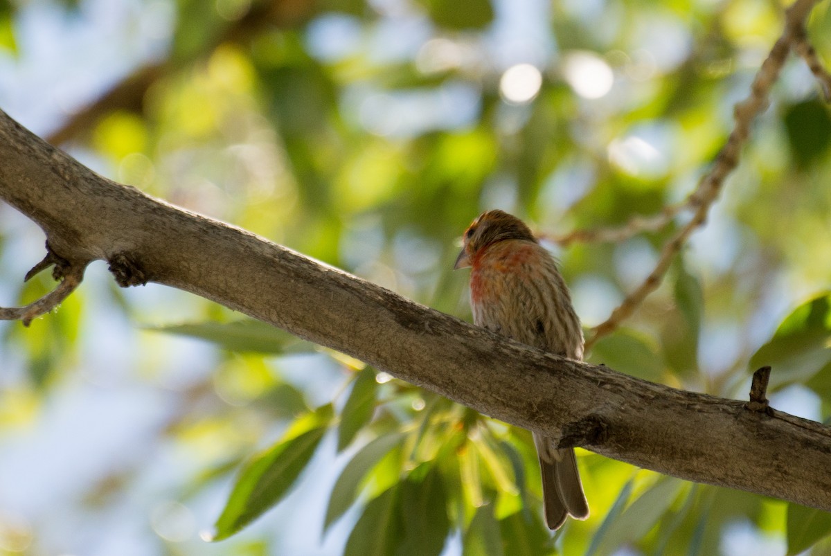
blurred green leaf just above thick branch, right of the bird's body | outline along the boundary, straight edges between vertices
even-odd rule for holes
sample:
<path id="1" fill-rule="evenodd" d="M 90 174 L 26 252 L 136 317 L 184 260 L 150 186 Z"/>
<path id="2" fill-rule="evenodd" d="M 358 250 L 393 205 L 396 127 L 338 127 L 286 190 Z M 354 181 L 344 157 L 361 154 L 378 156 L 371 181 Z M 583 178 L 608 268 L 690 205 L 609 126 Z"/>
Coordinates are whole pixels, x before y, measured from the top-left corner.
<path id="1" fill-rule="evenodd" d="M 602 337 L 592 348 L 588 359 L 595 365 L 603 363 L 615 371 L 647 381 L 660 381 L 664 364 L 647 337 L 628 329 L 618 329 Z"/>

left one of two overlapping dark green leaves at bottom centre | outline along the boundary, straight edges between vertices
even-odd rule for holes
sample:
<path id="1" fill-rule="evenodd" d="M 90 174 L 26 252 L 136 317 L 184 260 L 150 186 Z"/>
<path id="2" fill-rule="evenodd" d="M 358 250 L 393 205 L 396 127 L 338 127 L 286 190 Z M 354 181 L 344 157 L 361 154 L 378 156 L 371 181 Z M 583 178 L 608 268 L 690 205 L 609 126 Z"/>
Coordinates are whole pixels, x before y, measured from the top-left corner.
<path id="1" fill-rule="evenodd" d="M 401 535 L 398 485 L 372 499 L 347 539 L 345 556 L 386 556 L 395 554 Z"/>

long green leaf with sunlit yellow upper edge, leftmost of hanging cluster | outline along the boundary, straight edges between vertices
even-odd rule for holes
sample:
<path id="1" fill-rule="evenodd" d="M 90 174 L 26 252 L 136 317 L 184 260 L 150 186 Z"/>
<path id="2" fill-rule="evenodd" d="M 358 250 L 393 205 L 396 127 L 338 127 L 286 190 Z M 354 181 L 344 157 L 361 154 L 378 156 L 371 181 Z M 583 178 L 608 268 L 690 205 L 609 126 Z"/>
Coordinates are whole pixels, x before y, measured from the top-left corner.
<path id="1" fill-rule="evenodd" d="M 244 466 L 214 525 L 212 541 L 237 533 L 288 494 L 327 431 L 331 407 L 295 421 L 283 440 Z"/>

